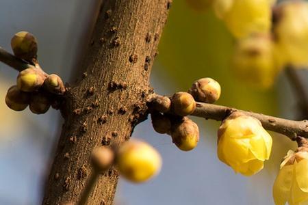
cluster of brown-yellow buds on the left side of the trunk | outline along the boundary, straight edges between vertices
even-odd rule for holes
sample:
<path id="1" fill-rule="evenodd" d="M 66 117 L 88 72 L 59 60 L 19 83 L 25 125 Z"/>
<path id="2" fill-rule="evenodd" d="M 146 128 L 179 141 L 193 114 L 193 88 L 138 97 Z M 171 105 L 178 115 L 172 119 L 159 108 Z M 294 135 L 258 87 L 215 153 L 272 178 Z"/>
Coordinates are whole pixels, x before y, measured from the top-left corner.
<path id="1" fill-rule="evenodd" d="M 11 40 L 14 55 L 27 62 L 29 68 L 21 70 L 16 85 L 8 90 L 5 102 L 14 111 L 23 111 L 29 105 L 32 113 L 42 114 L 53 104 L 54 95 L 62 95 L 65 87 L 56 74 L 47 74 L 38 65 L 38 44 L 29 32 L 21 31 Z"/>

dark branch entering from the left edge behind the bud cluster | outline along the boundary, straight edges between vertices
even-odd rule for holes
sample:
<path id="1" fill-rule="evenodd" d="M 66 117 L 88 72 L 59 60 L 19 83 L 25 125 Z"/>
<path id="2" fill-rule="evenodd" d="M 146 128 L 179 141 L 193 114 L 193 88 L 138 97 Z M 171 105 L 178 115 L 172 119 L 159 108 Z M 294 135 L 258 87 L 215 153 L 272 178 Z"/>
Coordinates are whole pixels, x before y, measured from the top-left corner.
<path id="1" fill-rule="evenodd" d="M 19 59 L 18 57 L 8 53 L 1 47 L 0 47 L 0 61 L 18 71 L 25 70 L 26 68 L 35 68 L 34 66 L 27 64 L 26 61 L 23 61 L 22 59 Z"/>

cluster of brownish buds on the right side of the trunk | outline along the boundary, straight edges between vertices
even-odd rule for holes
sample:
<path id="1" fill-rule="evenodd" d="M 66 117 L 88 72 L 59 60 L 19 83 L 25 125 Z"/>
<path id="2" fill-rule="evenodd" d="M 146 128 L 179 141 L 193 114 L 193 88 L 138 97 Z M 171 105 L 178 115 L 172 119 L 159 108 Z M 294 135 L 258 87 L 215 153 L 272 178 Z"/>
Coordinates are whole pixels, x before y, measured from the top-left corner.
<path id="1" fill-rule="evenodd" d="M 220 85 L 211 78 L 195 81 L 188 92 L 177 92 L 170 98 L 155 96 L 151 100 L 151 119 L 157 133 L 168 134 L 183 151 L 190 151 L 199 141 L 198 126 L 187 115 L 196 109 L 196 101 L 213 103 L 220 97 Z"/>

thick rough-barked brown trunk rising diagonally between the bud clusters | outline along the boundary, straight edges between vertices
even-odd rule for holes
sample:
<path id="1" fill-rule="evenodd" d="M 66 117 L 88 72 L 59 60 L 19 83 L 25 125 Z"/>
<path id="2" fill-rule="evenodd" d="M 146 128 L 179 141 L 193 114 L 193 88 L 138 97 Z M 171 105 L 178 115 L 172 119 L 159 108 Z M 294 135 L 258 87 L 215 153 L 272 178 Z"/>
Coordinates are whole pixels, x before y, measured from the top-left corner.
<path id="1" fill-rule="evenodd" d="M 149 75 L 169 0 L 106 0 L 84 59 L 84 76 L 62 107 L 65 123 L 42 204 L 77 202 L 94 147 L 129 139 L 146 117 Z M 118 173 L 99 178 L 88 204 L 113 204 Z"/>

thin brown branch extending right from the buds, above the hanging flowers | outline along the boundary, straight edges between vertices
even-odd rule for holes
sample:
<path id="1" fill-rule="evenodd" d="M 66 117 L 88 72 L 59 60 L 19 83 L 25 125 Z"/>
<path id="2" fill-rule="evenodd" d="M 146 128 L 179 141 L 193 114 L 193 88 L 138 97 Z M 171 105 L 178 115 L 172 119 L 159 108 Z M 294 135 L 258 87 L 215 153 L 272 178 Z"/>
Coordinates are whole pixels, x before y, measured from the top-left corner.
<path id="1" fill-rule="evenodd" d="M 157 96 L 161 97 L 159 95 L 155 95 L 154 98 L 156 98 Z M 296 139 L 297 136 L 308 138 L 307 120 L 286 120 L 283 118 L 272 117 L 270 115 L 253 113 L 251 111 L 242 111 L 231 107 L 224 107 L 222 105 L 213 105 L 203 102 L 196 102 L 196 109 L 194 110 L 192 115 L 205 119 L 222 121 L 224 120 L 224 118 L 227 118 L 227 116 L 230 115 L 230 113 L 232 113 L 233 111 L 239 111 L 241 113 L 244 113 L 245 115 L 257 118 L 266 130 L 281 133 L 292 140 Z"/>

